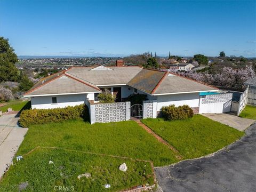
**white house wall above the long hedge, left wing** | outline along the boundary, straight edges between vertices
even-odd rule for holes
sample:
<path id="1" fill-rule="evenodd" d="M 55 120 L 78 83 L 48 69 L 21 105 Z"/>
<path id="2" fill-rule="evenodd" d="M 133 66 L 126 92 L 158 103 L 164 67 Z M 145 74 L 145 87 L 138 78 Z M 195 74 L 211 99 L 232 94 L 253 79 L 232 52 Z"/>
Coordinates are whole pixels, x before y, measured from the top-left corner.
<path id="1" fill-rule="evenodd" d="M 52 103 L 52 97 L 57 98 L 57 103 Z M 52 95 L 31 97 L 32 109 L 52 109 L 58 107 L 76 106 L 86 103 L 87 94 Z M 94 99 L 94 95 L 93 95 Z"/>

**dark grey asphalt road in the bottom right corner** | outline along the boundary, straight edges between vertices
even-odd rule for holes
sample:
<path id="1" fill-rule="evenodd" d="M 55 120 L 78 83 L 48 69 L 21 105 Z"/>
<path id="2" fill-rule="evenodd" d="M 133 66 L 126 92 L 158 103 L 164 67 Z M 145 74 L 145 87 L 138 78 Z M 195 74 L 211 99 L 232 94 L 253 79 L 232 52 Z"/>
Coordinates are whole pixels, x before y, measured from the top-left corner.
<path id="1" fill-rule="evenodd" d="M 214 156 L 155 168 L 163 191 L 256 191 L 256 123 Z"/>

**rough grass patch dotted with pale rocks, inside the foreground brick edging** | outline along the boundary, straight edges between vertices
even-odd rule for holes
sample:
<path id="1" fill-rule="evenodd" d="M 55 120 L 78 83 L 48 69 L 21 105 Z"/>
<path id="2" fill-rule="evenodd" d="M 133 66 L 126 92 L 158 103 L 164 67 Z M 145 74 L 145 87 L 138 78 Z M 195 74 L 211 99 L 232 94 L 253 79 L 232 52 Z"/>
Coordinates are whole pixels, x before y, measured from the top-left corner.
<path id="1" fill-rule="evenodd" d="M 119 165 L 124 162 L 127 171 L 119 171 Z M 86 172 L 91 174 L 90 178 L 77 179 Z M 153 185 L 154 179 L 148 162 L 62 149 L 36 149 L 15 162 L 4 175 L 0 191 L 18 192 L 22 182 L 28 182 L 24 191 L 54 191 L 58 186 L 69 191 L 117 191 L 146 183 Z M 106 189 L 105 184 L 111 187 Z"/>

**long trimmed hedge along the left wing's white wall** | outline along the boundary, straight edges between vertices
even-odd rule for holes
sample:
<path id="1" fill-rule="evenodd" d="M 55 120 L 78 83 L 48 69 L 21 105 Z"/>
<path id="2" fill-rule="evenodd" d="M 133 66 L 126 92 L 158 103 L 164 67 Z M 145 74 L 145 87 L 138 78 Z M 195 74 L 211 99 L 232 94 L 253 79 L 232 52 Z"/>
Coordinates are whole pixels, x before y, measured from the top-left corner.
<path id="1" fill-rule="evenodd" d="M 29 109 L 20 114 L 19 123 L 22 127 L 32 124 L 44 124 L 50 122 L 61 122 L 67 119 L 89 120 L 89 111 L 86 105 L 54 109 Z"/>

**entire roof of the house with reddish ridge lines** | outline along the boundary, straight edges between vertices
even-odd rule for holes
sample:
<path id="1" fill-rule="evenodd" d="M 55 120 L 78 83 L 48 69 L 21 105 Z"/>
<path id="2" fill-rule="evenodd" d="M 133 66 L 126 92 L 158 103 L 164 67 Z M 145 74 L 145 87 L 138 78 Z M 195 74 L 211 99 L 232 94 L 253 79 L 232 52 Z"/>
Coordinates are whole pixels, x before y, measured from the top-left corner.
<path id="1" fill-rule="evenodd" d="M 151 95 L 214 91 L 188 78 L 140 67 L 74 67 L 39 81 L 25 95 L 98 93 L 99 86 L 129 85 Z"/>

